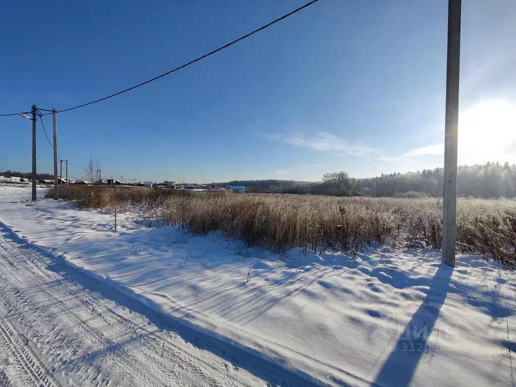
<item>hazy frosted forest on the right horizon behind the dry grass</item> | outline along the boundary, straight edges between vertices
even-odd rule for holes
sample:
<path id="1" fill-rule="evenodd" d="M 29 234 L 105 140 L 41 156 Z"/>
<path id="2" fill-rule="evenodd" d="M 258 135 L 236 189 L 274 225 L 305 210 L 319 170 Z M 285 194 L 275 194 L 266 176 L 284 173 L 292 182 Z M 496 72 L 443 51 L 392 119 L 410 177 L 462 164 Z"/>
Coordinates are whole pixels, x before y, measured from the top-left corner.
<path id="1" fill-rule="evenodd" d="M 247 192 L 312 193 L 333 196 L 441 196 L 443 168 L 351 178 L 344 171 L 325 173 L 320 182 L 295 180 L 238 180 L 215 185 L 245 185 Z M 516 197 L 516 165 L 486 163 L 459 166 L 457 195 L 477 198 Z"/>

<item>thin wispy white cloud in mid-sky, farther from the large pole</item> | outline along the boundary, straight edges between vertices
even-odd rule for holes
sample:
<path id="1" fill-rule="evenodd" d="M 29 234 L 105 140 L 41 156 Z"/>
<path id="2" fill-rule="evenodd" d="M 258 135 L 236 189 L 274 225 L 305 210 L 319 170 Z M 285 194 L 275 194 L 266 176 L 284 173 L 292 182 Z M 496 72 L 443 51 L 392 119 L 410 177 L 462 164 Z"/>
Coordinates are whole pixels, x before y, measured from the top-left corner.
<path id="1" fill-rule="evenodd" d="M 262 133 L 269 141 L 282 141 L 296 148 L 309 148 L 320 152 L 341 151 L 340 156 L 363 156 L 373 151 L 366 146 L 350 145 L 347 141 L 331 133 L 319 132 L 313 136 L 305 136 L 304 133 Z"/>

